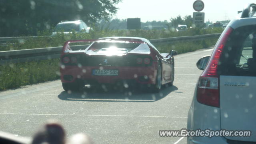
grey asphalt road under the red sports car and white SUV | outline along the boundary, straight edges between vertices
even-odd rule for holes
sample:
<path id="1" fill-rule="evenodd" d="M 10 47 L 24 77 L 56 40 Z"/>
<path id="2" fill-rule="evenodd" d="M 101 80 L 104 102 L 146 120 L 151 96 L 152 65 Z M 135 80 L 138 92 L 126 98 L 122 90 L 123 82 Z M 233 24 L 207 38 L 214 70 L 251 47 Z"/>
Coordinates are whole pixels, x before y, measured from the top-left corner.
<path id="1" fill-rule="evenodd" d="M 160 137 L 159 130 L 186 128 L 198 76 L 196 62 L 212 49 L 175 56 L 175 81 L 160 94 L 94 91 L 68 94 L 60 80 L 0 92 L 0 130 L 32 136 L 49 119 L 63 124 L 68 137 L 89 134 L 96 144 L 186 144 Z"/>

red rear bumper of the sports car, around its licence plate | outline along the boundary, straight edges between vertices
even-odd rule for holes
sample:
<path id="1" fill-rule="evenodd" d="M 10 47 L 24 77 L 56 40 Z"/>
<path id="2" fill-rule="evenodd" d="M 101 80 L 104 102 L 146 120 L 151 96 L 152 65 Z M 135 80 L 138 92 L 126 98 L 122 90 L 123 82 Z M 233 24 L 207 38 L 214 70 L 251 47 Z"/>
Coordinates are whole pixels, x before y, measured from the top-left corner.
<path id="1" fill-rule="evenodd" d="M 95 76 L 94 69 L 118 70 L 118 76 Z M 70 83 L 83 80 L 86 83 L 115 84 L 123 80 L 133 80 L 140 84 L 155 84 L 156 68 L 154 64 L 150 67 L 114 67 L 114 66 L 65 66 L 60 68 L 62 83 Z"/>

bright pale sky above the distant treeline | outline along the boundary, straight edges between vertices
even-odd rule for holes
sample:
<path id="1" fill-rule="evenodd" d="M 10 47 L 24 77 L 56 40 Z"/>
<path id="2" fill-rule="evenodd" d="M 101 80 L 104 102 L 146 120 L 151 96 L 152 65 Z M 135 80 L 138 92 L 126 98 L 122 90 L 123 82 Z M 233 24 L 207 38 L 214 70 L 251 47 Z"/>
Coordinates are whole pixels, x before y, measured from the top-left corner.
<path id="1" fill-rule="evenodd" d="M 195 0 L 122 0 L 117 7 L 119 10 L 113 18 L 127 19 L 140 18 L 141 22 L 164 21 L 176 16 L 192 15 Z M 210 20 L 232 20 L 237 11 L 243 10 L 249 3 L 256 0 L 202 0 L 204 2 L 205 22 Z"/>

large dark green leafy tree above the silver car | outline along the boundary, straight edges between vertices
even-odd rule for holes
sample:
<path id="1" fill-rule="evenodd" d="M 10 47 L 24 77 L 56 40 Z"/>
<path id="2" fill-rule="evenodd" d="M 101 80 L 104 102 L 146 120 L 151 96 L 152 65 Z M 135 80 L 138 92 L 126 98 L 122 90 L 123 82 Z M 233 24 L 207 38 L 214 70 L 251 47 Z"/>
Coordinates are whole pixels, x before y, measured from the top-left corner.
<path id="1" fill-rule="evenodd" d="M 121 0 L 0 0 L 0 36 L 36 35 L 61 20 L 106 19 Z"/>

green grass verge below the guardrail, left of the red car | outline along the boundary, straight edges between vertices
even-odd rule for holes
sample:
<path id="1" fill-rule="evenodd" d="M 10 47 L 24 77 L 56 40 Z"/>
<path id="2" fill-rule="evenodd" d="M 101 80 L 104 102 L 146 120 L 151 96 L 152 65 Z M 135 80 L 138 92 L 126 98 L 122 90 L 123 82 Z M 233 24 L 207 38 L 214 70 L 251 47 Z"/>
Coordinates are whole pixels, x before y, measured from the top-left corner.
<path id="1" fill-rule="evenodd" d="M 0 66 L 0 90 L 18 88 L 60 78 L 59 59 Z"/>

